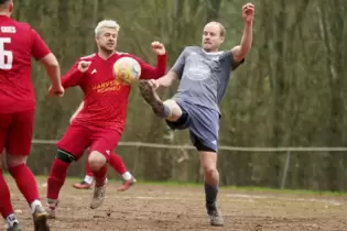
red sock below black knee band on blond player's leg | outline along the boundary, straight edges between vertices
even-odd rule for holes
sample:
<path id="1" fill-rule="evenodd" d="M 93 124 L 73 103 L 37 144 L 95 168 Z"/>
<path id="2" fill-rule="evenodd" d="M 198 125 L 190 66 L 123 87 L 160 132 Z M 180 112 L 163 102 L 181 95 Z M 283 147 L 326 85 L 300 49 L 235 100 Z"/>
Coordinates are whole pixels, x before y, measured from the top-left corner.
<path id="1" fill-rule="evenodd" d="M 55 158 L 47 183 L 47 198 L 56 200 L 58 199 L 59 191 L 65 183 L 68 163 L 65 163 L 58 158 Z"/>

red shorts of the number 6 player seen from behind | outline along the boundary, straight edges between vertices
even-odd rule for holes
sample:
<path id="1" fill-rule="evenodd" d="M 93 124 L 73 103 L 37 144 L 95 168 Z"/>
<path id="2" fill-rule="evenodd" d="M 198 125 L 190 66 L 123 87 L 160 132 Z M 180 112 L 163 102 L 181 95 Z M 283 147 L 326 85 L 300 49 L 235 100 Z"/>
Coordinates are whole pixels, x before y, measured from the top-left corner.
<path id="1" fill-rule="evenodd" d="M 35 110 L 0 113 L 0 154 L 29 155 L 33 138 Z"/>

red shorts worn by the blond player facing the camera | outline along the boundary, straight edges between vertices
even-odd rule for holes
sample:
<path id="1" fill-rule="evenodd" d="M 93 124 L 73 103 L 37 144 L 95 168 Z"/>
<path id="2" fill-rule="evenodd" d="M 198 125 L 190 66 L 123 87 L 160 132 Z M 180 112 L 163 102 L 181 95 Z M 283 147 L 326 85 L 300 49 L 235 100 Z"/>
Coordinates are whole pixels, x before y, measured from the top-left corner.
<path id="1" fill-rule="evenodd" d="M 120 136 L 121 133 L 112 129 L 72 124 L 56 145 L 59 150 L 74 155 L 76 161 L 83 156 L 84 151 L 88 147 L 89 153 L 97 151 L 108 161 L 109 155 L 118 145 Z"/>

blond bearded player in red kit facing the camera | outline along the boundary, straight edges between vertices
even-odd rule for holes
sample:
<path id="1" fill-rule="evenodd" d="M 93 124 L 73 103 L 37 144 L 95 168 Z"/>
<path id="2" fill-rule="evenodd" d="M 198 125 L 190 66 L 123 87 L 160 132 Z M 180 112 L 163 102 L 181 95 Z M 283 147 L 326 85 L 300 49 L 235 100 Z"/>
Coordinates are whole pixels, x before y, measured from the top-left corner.
<path id="1" fill-rule="evenodd" d="M 159 78 L 165 74 L 167 56 L 163 44 L 152 43 L 158 55 L 156 67 L 140 58 L 116 52 L 119 25 L 104 20 L 95 29 L 98 53 L 79 58 L 63 77 L 64 88 L 79 86 L 84 92 L 84 107 L 57 143 L 57 155 L 47 182 L 47 205 L 51 218 L 55 217 L 58 195 L 67 168 L 88 148 L 88 162 L 95 178 L 91 209 L 105 199 L 107 162 L 123 132 L 131 86 L 115 79 L 112 66 L 120 57 L 135 58 L 141 66 L 142 79 Z"/>

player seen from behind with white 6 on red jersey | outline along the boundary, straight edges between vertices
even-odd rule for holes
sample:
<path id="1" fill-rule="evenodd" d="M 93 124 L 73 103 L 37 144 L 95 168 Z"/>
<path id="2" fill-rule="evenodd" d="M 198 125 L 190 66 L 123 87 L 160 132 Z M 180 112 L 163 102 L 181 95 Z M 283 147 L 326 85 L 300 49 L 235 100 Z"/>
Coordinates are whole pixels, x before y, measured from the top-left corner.
<path id="1" fill-rule="evenodd" d="M 2 175 L 1 154 L 6 150 L 8 170 L 31 208 L 35 230 L 50 230 L 35 177 L 26 166 L 35 111 L 31 58 L 45 67 L 51 96 L 62 96 L 64 88 L 55 56 L 31 25 L 10 18 L 12 10 L 12 0 L 0 0 L 0 213 L 8 231 L 21 230 Z"/>

